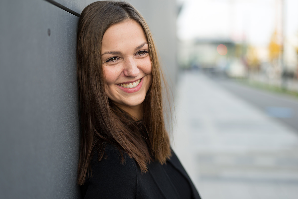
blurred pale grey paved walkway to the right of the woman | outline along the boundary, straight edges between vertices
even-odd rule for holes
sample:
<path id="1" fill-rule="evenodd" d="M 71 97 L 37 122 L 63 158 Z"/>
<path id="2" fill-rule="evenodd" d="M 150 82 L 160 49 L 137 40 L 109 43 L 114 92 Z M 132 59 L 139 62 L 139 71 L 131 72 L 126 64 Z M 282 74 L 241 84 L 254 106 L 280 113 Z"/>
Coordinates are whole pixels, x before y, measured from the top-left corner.
<path id="1" fill-rule="evenodd" d="M 202 198 L 296 199 L 298 134 L 272 118 L 288 109 L 262 97 L 263 111 L 218 83 L 191 71 L 176 87 L 172 145 Z"/>

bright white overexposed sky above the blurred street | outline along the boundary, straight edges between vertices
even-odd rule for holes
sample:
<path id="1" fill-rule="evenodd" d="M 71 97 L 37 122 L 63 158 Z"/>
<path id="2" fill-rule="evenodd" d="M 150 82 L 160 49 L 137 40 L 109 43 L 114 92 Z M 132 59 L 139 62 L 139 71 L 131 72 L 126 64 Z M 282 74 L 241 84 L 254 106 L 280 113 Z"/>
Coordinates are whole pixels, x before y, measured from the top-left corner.
<path id="1" fill-rule="evenodd" d="M 177 18 L 180 40 L 231 38 L 267 45 L 280 31 L 282 0 L 177 0 L 183 4 Z M 284 0 L 285 35 L 298 41 L 298 0 Z"/>

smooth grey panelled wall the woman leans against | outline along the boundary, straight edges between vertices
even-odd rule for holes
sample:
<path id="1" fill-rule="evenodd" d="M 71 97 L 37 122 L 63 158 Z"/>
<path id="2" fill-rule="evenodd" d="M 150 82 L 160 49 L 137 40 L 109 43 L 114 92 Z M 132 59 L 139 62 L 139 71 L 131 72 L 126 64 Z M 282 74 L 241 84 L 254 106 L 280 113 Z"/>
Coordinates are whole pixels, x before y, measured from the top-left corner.
<path id="1" fill-rule="evenodd" d="M 57 0 L 81 13 L 93 1 Z M 176 71 L 174 0 L 129 1 Z M 79 198 L 78 17 L 44 0 L 0 2 L 1 198 Z"/>

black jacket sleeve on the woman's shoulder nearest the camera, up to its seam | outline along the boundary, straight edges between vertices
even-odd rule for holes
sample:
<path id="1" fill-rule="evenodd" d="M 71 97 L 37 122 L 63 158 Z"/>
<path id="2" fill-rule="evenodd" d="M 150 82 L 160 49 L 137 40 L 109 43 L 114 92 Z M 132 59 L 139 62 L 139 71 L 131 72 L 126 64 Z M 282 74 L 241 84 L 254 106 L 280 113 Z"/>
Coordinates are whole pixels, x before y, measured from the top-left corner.
<path id="1" fill-rule="evenodd" d="M 134 159 L 123 153 L 125 162 L 121 161 L 121 153 L 116 147 L 105 148 L 106 159 L 97 161 L 94 155 L 91 161 L 92 177 L 82 186 L 85 198 L 135 198 L 136 163 Z"/>

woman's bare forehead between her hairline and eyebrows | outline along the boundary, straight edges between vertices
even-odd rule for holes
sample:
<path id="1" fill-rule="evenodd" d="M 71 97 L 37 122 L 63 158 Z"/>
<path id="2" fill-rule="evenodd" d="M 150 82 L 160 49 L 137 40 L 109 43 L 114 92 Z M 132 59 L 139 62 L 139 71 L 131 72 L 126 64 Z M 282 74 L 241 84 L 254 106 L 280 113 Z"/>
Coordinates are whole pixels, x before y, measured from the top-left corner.
<path id="1" fill-rule="evenodd" d="M 105 31 L 102 51 L 126 49 L 134 45 L 139 46 L 144 42 L 147 42 L 147 39 L 141 25 L 134 20 L 123 21 L 112 25 Z"/>

